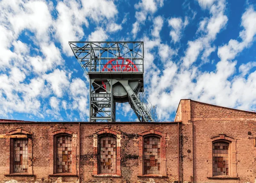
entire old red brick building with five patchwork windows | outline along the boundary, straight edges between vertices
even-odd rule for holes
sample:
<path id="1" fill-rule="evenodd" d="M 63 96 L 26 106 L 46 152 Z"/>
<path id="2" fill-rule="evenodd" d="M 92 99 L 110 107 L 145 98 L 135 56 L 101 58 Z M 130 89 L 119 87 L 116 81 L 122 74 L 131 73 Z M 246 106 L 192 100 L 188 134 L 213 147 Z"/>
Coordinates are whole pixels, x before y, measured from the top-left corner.
<path id="1" fill-rule="evenodd" d="M 255 183 L 255 137 L 255 112 L 193 100 L 174 122 L 0 120 L 0 182 Z"/>

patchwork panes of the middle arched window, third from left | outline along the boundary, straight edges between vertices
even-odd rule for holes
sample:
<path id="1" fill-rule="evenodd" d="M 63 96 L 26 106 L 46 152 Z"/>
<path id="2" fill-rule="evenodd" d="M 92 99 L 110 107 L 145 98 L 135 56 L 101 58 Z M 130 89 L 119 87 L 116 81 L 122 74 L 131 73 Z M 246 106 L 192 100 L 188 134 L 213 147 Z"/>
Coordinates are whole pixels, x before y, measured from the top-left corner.
<path id="1" fill-rule="evenodd" d="M 116 173 L 116 137 L 105 136 L 99 143 L 99 172 Z"/>

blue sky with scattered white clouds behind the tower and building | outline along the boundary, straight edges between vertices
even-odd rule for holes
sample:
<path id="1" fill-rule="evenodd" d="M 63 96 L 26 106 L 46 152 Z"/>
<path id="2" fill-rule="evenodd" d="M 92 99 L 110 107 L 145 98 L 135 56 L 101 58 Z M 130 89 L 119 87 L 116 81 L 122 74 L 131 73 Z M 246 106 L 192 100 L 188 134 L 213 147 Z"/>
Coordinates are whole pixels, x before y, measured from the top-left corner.
<path id="1" fill-rule="evenodd" d="M 88 79 L 68 41 L 144 41 L 160 121 L 180 99 L 256 110 L 256 0 L 1 0 L 0 118 L 87 121 Z M 128 103 L 118 121 L 135 121 Z"/>

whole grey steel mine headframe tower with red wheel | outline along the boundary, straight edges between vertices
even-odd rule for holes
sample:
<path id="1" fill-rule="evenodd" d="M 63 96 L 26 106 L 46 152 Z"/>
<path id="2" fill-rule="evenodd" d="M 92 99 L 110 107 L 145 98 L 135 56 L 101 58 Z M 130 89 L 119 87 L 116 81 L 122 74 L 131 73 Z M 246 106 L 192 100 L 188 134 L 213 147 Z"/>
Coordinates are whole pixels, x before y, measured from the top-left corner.
<path id="1" fill-rule="evenodd" d="M 116 102 L 129 102 L 140 121 L 157 121 L 143 93 L 143 42 L 69 42 L 90 80 L 90 121 L 115 121 Z"/>

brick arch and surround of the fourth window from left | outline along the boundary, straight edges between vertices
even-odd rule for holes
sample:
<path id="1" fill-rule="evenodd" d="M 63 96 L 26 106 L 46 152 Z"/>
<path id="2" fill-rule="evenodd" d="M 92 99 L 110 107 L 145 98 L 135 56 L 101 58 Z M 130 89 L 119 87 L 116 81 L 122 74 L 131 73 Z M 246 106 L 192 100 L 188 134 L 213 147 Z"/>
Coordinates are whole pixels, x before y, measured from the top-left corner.
<path id="1" fill-rule="evenodd" d="M 160 138 L 160 163 L 161 163 L 161 176 L 166 176 L 166 133 L 160 132 L 155 129 L 148 129 L 144 132 L 139 133 L 139 171 L 138 176 L 147 176 L 143 175 L 143 138 L 147 136 L 156 136 Z M 150 175 L 151 176 L 151 175 Z"/>

